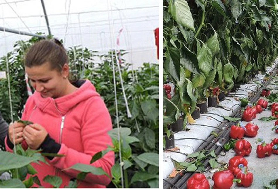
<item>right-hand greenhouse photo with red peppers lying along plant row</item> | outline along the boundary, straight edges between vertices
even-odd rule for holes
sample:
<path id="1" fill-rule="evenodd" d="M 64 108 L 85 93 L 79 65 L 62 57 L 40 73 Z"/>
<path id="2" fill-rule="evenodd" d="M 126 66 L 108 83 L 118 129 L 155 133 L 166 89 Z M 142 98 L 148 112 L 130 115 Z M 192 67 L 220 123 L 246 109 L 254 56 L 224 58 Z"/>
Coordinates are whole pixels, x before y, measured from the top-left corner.
<path id="1" fill-rule="evenodd" d="M 277 188 L 278 4 L 163 1 L 163 188 Z"/>

